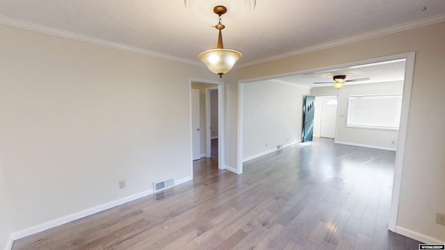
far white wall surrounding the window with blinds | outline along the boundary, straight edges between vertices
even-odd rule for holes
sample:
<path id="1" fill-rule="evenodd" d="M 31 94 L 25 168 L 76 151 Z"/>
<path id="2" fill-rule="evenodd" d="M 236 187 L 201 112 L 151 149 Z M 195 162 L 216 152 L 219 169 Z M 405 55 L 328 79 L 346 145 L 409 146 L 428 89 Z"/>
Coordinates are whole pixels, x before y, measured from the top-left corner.
<path id="1" fill-rule="evenodd" d="M 320 96 L 332 91 L 337 92 L 337 89 L 332 87 L 312 88 L 311 94 Z M 345 87 L 339 89 L 337 136 L 335 138 L 335 142 L 363 147 L 373 147 L 376 149 L 396 150 L 398 131 L 347 127 L 348 103 L 351 95 L 399 94 L 402 92 L 403 81 L 346 85 Z"/>

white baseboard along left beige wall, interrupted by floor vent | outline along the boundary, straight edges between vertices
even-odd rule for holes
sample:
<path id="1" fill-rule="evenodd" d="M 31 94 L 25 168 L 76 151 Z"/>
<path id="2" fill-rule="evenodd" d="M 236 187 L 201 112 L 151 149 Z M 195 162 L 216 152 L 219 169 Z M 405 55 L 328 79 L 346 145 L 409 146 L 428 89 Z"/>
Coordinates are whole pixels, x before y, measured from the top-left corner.
<path id="1" fill-rule="evenodd" d="M 186 183 L 186 182 L 191 181 L 191 180 L 193 180 L 193 178 L 191 178 L 191 177 L 182 178 L 182 179 L 180 179 L 178 181 L 175 181 L 175 185 L 173 185 L 172 187 L 175 187 L 175 186 L 180 185 L 182 183 Z M 172 188 L 172 187 L 170 187 L 170 188 Z M 118 199 L 116 201 L 111 201 L 111 202 L 108 202 L 108 203 L 104 203 L 104 204 L 102 204 L 100 206 L 96 206 L 94 208 L 89 208 L 87 210 L 83 210 L 83 211 L 81 211 L 79 213 L 74 213 L 72 215 L 67 215 L 65 217 L 54 219 L 51 222 L 45 222 L 45 223 L 37 225 L 37 226 L 32 226 L 30 228 L 26 228 L 26 229 L 24 229 L 22 231 L 18 231 L 16 233 L 13 233 L 13 234 L 10 235 L 10 247 L 7 248 L 7 249 L 8 250 L 11 249 L 11 247 L 13 246 L 14 240 L 18 240 L 18 239 L 24 238 L 26 236 L 33 235 L 34 233 L 39 233 L 39 232 L 45 231 L 45 230 L 47 230 L 49 228 L 54 228 L 56 226 L 60 226 L 62 224 L 68 223 L 68 222 L 73 222 L 76 219 L 81 219 L 83 217 L 87 217 L 89 215 L 93 215 L 95 213 L 99 213 L 99 212 L 102 212 L 104 210 L 107 210 L 107 209 L 110 209 L 110 208 L 114 208 L 115 206 L 120 206 L 120 205 L 122 205 L 124 203 L 128 203 L 130 201 L 134 201 L 136 199 L 140 199 L 140 198 L 146 197 L 146 196 L 148 196 L 150 194 L 153 194 L 153 193 L 154 192 L 153 192 L 152 189 L 146 190 L 146 191 L 140 192 L 138 194 L 130 195 L 129 197 L 124 197 L 124 198 Z"/>

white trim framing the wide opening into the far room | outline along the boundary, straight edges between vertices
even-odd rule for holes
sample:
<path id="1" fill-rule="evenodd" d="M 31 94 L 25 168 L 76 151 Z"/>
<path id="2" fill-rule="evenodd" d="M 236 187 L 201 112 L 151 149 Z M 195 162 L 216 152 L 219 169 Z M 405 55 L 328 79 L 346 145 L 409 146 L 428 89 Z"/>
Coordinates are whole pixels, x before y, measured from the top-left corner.
<path id="1" fill-rule="evenodd" d="M 337 67 L 351 67 L 355 65 L 364 65 L 369 63 L 379 63 L 386 60 L 406 59 L 405 63 L 405 81 L 403 82 L 403 101 L 401 111 L 401 124 L 398 130 L 398 147 L 396 151 L 396 162 L 394 163 L 394 184 L 391 194 L 391 208 L 389 210 L 388 229 L 397 233 L 397 217 L 398 204 L 400 202 L 403 159 L 405 158 L 405 142 L 407 135 L 408 115 L 410 113 L 410 99 L 412 81 L 414 76 L 414 62 L 416 52 L 399 53 L 391 56 L 381 56 L 378 58 L 370 58 L 366 60 L 358 60 L 350 63 L 339 65 L 330 65 L 327 67 L 318 67 L 315 69 L 300 70 L 297 72 L 289 72 L 286 74 L 277 74 L 273 76 L 263 76 L 258 78 L 246 79 L 238 81 L 238 130 L 237 130 L 237 150 L 236 150 L 236 173 L 243 173 L 243 105 L 244 105 L 244 84 L 254 81 L 268 80 L 279 76 L 291 76 L 293 74 L 305 74 L 312 72 L 325 71 Z"/>

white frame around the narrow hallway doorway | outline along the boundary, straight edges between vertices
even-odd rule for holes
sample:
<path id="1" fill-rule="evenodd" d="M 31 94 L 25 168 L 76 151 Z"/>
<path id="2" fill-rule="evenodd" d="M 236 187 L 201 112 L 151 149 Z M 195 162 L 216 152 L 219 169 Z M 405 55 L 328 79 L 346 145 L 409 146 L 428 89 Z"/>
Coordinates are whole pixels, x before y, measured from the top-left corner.
<path id="1" fill-rule="evenodd" d="M 193 128 L 192 128 L 192 82 L 195 83 L 209 83 L 218 85 L 218 169 L 225 169 L 225 83 L 220 81 L 204 80 L 200 78 L 188 78 L 188 119 L 190 133 L 190 176 L 193 179 Z"/>

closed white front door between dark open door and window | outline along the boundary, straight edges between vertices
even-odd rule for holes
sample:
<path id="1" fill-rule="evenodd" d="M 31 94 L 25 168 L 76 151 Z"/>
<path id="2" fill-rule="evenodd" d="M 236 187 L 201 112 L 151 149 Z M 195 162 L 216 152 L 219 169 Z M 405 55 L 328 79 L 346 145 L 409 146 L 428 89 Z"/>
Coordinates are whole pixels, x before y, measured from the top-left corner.
<path id="1" fill-rule="evenodd" d="M 323 97 L 321 108 L 320 137 L 335 138 L 337 97 Z"/>

